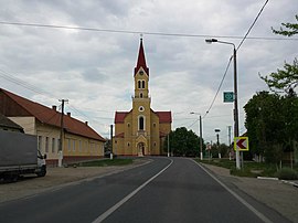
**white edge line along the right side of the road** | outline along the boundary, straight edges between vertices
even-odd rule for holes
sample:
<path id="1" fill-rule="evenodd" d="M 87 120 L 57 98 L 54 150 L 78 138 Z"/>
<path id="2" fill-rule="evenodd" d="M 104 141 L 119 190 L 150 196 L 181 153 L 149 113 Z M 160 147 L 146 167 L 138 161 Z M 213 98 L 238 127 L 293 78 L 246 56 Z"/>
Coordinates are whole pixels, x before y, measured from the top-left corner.
<path id="1" fill-rule="evenodd" d="M 192 159 L 192 161 L 194 161 Z M 273 223 L 268 217 L 266 217 L 264 214 L 262 214 L 259 211 L 257 211 L 254 206 L 252 206 L 249 203 L 247 203 L 243 198 L 241 198 L 238 194 L 236 194 L 234 191 L 232 191 L 230 188 L 227 188 L 224 183 L 222 183 L 217 178 L 215 178 L 212 173 L 210 173 L 203 166 L 201 166 L 199 162 L 194 161 L 200 168 L 202 168 L 211 178 L 213 178 L 217 183 L 220 183 L 225 190 L 227 190 L 232 195 L 235 197 L 243 205 L 245 205 L 247 209 L 249 209 L 255 215 L 257 215 L 263 222 L 265 223 Z"/>

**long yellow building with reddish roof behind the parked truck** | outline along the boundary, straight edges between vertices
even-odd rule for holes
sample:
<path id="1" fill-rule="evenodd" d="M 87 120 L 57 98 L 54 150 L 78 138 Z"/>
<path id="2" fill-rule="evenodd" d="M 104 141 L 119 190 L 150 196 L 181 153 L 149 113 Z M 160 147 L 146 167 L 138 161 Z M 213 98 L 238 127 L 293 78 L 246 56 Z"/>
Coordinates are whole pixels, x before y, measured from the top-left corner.
<path id="1" fill-rule="evenodd" d="M 49 108 L 0 88 L 0 113 L 20 125 L 25 134 L 38 136 L 38 148 L 47 156 L 47 164 L 98 159 L 104 156 L 105 139 L 88 126 L 63 114 L 62 147 L 61 118 L 57 107 Z M 62 149 L 60 149 L 62 148 Z"/>

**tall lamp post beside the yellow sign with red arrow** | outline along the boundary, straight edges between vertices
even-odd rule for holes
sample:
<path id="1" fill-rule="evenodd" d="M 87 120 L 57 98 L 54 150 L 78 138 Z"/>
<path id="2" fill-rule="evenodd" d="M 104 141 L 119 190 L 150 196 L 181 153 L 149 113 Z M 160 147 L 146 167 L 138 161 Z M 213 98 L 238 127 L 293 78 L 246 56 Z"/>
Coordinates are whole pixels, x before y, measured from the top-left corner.
<path id="1" fill-rule="evenodd" d="M 234 137 L 240 136 L 240 124 L 238 124 L 238 91 L 237 91 L 237 51 L 234 43 L 219 41 L 216 39 L 205 40 L 206 43 L 223 43 L 233 45 L 233 59 L 234 59 Z M 236 148 L 236 168 L 241 169 L 240 162 L 240 150 Z"/>

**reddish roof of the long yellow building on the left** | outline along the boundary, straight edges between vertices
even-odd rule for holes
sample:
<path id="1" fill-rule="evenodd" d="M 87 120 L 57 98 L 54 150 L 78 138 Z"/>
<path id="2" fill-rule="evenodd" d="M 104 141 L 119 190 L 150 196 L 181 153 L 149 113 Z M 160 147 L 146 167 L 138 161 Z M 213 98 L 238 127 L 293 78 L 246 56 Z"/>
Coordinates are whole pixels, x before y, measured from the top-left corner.
<path id="1" fill-rule="evenodd" d="M 41 104 L 29 100 L 24 97 L 14 95 L 0 88 L 0 96 L 7 95 L 11 100 L 6 100 L 6 105 L 0 103 L 0 109 L 6 116 L 34 116 L 39 121 L 51 126 L 61 126 L 61 113 Z M 3 99 L 0 97 L 0 99 Z M 1 107 L 2 105 L 2 107 Z M 93 130 L 86 123 L 77 120 L 71 116 L 63 116 L 64 128 L 66 131 L 84 136 L 87 138 L 106 141 L 100 135 Z"/>

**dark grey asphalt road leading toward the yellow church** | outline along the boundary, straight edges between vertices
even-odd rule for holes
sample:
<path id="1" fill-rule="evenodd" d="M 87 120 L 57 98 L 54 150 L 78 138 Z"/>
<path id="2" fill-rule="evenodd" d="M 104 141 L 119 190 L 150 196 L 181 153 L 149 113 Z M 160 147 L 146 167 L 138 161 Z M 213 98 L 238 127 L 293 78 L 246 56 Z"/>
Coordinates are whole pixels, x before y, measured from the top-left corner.
<path id="1" fill-rule="evenodd" d="M 191 159 L 152 159 L 117 174 L 1 203 L 0 222 L 283 222 Z"/>

